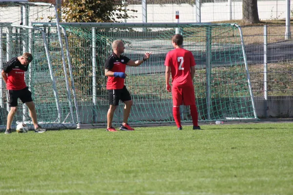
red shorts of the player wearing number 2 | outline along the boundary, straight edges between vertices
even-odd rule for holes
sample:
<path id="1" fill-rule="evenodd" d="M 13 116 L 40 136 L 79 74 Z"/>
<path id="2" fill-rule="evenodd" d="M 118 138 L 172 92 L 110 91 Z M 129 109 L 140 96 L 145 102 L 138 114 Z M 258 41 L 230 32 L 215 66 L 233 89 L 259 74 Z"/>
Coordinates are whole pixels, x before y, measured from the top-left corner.
<path id="1" fill-rule="evenodd" d="M 172 86 L 173 106 L 195 105 L 193 86 Z"/>

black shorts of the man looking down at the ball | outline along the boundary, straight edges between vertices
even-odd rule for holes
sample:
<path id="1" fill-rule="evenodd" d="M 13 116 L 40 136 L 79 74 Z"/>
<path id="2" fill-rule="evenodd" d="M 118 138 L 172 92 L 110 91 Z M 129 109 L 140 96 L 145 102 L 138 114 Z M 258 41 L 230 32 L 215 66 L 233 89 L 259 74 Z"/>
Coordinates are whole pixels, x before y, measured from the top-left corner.
<path id="1" fill-rule="evenodd" d="M 28 90 L 28 87 L 21 90 L 8 90 L 9 107 L 18 106 L 18 98 L 21 99 L 22 103 L 33 101 L 32 93 Z"/>

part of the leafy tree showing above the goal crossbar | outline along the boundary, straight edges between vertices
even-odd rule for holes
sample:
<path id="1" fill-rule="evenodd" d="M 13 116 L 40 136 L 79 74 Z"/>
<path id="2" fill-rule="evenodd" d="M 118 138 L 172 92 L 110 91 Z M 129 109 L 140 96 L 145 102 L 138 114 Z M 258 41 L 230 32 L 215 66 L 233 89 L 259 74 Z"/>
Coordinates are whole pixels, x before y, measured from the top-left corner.
<path id="1" fill-rule="evenodd" d="M 129 19 L 122 1 L 113 0 L 66 0 L 63 1 L 63 20 L 66 22 L 116 22 L 116 19 Z"/>

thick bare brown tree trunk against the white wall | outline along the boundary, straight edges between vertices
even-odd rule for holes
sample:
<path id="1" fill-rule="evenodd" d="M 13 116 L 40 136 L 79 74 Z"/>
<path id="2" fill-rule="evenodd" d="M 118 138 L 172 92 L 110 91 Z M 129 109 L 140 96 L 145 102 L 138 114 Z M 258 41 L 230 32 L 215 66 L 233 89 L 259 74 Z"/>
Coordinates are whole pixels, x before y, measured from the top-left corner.
<path id="1" fill-rule="evenodd" d="M 244 23 L 254 24 L 259 23 L 257 0 L 242 1 L 242 20 Z"/>

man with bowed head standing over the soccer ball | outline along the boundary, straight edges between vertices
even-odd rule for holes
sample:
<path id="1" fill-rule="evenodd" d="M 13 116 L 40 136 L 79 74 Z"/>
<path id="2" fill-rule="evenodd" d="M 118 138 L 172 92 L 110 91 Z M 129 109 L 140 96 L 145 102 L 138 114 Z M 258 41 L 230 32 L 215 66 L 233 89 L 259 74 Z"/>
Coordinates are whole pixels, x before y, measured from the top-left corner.
<path id="1" fill-rule="evenodd" d="M 7 116 L 7 127 L 5 134 L 11 134 L 11 124 L 13 117 L 17 111 L 18 98 L 22 103 L 25 103 L 29 109 L 30 116 L 33 120 L 36 133 L 43 133 L 46 130 L 42 129 L 37 122 L 37 112 L 32 99 L 32 94 L 28 90 L 24 82 L 24 72 L 27 71 L 29 63 L 33 60 L 30 53 L 24 53 L 22 56 L 10 59 L 3 67 L 1 72 L 2 78 L 6 83 L 8 90 L 8 103 L 10 111 Z"/>

